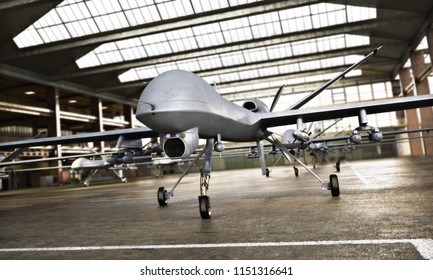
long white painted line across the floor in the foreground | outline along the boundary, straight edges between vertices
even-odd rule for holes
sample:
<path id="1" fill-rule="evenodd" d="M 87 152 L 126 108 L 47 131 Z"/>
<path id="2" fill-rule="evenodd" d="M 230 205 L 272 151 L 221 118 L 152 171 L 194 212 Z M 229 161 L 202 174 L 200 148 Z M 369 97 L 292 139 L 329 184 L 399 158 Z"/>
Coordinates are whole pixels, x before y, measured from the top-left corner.
<path id="1" fill-rule="evenodd" d="M 433 259 L 433 239 L 373 239 L 341 241 L 299 241 L 299 242 L 250 242 L 250 243 L 208 243 L 172 245 L 132 245 L 132 246 L 79 246 L 79 247 L 40 247 L 40 248 L 0 248 L 0 253 L 13 252 L 58 252 L 58 251 L 107 251 L 107 250 L 163 250 L 163 249 L 202 249 L 202 248 L 253 248 L 253 247 L 295 247 L 332 245 L 381 245 L 410 243 L 427 260 Z"/>

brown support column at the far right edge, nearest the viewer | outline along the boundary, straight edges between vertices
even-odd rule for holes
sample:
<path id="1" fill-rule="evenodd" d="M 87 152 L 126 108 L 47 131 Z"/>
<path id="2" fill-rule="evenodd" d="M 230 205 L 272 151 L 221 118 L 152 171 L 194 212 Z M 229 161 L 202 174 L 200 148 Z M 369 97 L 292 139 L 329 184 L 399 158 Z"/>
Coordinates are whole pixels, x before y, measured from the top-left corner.
<path id="1" fill-rule="evenodd" d="M 427 75 L 430 73 L 430 65 L 425 64 L 424 54 L 422 51 L 415 51 L 410 56 L 410 61 L 412 64 L 412 71 L 414 76 L 414 81 L 416 85 L 417 95 L 430 94 L 430 88 L 428 85 Z M 421 127 L 428 128 L 433 127 L 433 110 L 432 107 L 420 108 L 421 113 Z M 425 137 L 424 151 L 426 155 L 433 155 L 433 139 L 427 138 L 428 134 L 423 133 Z"/>

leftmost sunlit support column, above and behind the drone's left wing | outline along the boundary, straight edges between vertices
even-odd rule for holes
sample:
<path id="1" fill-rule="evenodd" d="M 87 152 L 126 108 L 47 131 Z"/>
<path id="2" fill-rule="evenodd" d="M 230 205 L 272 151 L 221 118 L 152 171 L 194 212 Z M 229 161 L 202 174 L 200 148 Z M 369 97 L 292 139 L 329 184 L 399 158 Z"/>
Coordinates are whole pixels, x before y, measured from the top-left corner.
<path id="1" fill-rule="evenodd" d="M 47 87 L 47 107 L 54 112 L 54 116 L 48 118 L 47 122 L 47 132 L 48 137 L 58 137 L 62 136 L 62 130 L 61 130 L 61 121 L 60 121 L 60 94 L 59 89 L 57 87 Z M 62 156 L 62 146 L 57 145 L 54 150 L 54 156 L 61 157 Z M 51 175 L 56 177 L 57 182 L 61 182 L 61 166 L 62 161 L 50 161 L 50 166 L 59 167 L 58 170 L 52 170 L 50 172 Z"/>

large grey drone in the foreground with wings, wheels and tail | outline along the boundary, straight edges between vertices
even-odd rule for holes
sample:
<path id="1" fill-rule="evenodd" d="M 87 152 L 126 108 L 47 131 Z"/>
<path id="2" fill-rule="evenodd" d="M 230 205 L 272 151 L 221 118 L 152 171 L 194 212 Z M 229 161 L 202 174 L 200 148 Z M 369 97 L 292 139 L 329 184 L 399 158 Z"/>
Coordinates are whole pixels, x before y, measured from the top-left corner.
<path id="1" fill-rule="evenodd" d="M 222 141 L 255 141 L 259 150 L 262 174 L 266 175 L 267 170 L 262 143 L 263 140 L 266 140 L 306 168 L 324 189 L 331 191 L 332 196 L 339 196 L 340 188 L 336 174 L 331 174 L 329 181 L 319 178 L 297 157 L 292 155 L 268 128 L 358 116 L 359 127 L 357 131 L 369 132 L 372 139 L 379 141 L 383 136 L 379 130 L 368 125 L 367 114 L 433 106 L 433 95 L 429 94 L 301 109 L 303 105 L 320 92 L 372 57 L 377 50 L 366 55 L 361 61 L 282 112 L 272 112 L 281 95 L 281 90 L 277 92 L 271 109 L 257 99 L 247 100 L 243 106 L 239 106 L 223 98 L 214 87 L 199 76 L 183 70 L 172 70 L 155 77 L 141 94 L 136 118 L 146 126 L 144 128 L 13 141 L 0 143 L 0 149 L 115 140 L 117 137 L 133 140 L 159 135 L 162 149 L 167 156 L 170 158 L 186 158 L 196 151 L 199 139 L 205 139 L 205 148 L 199 152 L 170 190 L 166 190 L 164 187 L 158 189 L 157 199 L 161 206 L 167 205 L 169 198 L 173 197 L 174 190 L 182 178 L 204 155 L 204 164 L 200 172 L 200 195 L 198 198 L 201 217 L 209 219 L 211 217 L 211 207 L 208 189 L 213 150 L 222 152 L 224 150 Z"/>

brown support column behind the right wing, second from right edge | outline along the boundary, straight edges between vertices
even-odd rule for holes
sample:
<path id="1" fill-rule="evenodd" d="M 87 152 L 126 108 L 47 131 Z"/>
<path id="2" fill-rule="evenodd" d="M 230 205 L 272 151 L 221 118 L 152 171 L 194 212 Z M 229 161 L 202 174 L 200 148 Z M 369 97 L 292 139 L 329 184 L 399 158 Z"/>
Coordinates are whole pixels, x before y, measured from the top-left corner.
<path id="1" fill-rule="evenodd" d="M 410 75 L 409 69 L 400 69 L 399 72 L 401 88 L 403 89 L 404 96 L 414 96 L 412 77 Z M 406 110 L 406 121 L 407 121 L 407 129 L 418 129 L 419 128 L 419 120 L 418 120 L 418 109 Z M 409 133 L 410 138 L 420 137 L 421 134 L 419 132 Z M 422 141 L 410 141 L 410 150 L 411 155 L 420 156 L 424 155 L 424 149 L 422 146 Z"/>

